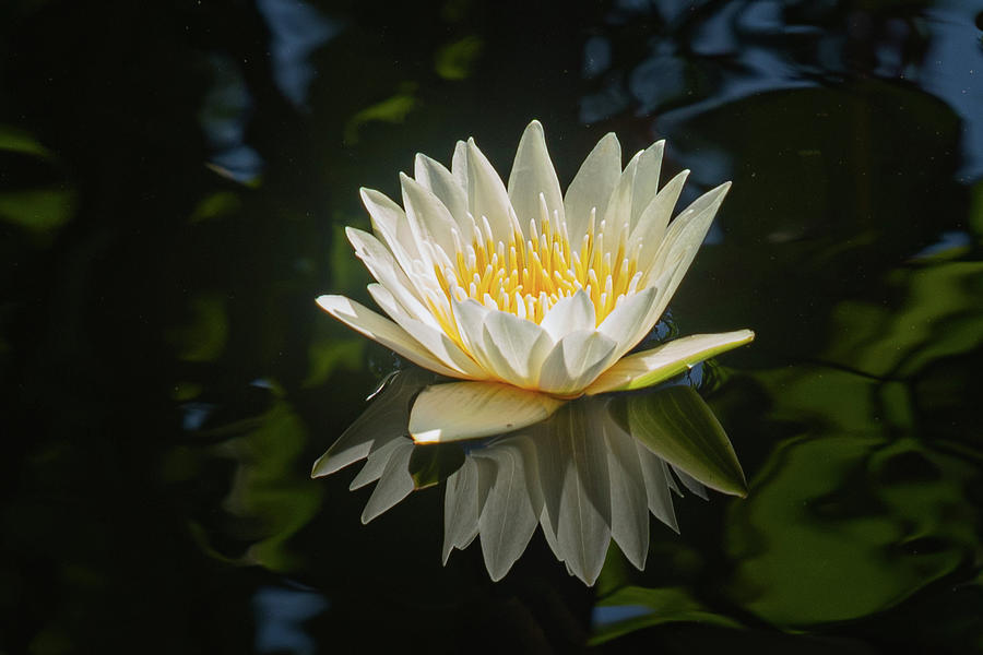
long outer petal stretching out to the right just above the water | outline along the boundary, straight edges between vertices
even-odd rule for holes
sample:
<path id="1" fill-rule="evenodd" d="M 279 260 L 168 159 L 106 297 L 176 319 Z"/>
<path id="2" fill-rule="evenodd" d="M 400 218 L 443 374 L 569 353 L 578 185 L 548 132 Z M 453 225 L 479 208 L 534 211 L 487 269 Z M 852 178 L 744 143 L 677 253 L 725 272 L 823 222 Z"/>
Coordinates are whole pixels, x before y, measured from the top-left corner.
<path id="1" fill-rule="evenodd" d="M 608 391 L 631 391 L 659 384 L 686 369 L 750 343 L 755 333 L 737 330 L 721 334 L 694 334 L 623 357 L 588 386 L 590 395 Z"/>

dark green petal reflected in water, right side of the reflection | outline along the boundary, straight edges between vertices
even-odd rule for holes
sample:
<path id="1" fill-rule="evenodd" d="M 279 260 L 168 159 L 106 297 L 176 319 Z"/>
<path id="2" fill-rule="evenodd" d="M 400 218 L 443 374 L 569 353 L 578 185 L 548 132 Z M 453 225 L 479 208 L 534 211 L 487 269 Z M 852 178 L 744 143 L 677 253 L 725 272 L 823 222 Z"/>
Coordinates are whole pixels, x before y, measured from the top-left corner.
<path id="1" fill-rule="evenodd" d="M 696 481 L 724 493 L 747 496 L 747 480 L 734 448 L 691 386 L 671 386 L 628 398 L 628 427 L 646 448 Z"/>

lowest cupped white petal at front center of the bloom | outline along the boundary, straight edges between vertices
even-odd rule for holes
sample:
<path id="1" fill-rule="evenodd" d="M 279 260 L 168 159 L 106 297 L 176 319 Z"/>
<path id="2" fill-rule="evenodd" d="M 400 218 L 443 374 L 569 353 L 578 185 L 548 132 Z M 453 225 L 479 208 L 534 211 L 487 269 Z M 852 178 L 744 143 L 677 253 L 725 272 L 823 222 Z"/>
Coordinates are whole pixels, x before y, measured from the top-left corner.
<path id="1" fill-rule="evenodd" d="M 553 346 L 543 361 L 540 389 L 559 395 L 582 391 L 607 368 L 617 345 L 600 332 L 571 332 Z"/>

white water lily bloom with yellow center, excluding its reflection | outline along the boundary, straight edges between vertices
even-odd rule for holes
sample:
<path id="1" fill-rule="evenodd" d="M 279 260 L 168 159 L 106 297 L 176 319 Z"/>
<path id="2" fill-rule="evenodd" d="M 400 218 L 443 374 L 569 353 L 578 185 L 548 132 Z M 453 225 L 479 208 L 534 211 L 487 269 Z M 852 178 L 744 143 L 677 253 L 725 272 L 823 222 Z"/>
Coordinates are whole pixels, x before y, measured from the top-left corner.
<path id="1" fill-rule="evenodd" d="M 375 235 L 346 234 L 389 319 L 344 296 L 318 303 L 426 369 L 486 382 L 421 393 L 410 419 L 417 442 L 518 429 L 570 398 L 655 384 L 754 338 L 694 335 L 625 356 L 659 321 L 730 188 L 670 223 L 689 171 L 660 190 L 663 146 L 621 170 L 609 133 L 564 195 L 534 120 L 508 188 L 469 140 L 450 170 L 416 156 L 415 177 L 400 176 L 405 211 L 362 190 Z"/>

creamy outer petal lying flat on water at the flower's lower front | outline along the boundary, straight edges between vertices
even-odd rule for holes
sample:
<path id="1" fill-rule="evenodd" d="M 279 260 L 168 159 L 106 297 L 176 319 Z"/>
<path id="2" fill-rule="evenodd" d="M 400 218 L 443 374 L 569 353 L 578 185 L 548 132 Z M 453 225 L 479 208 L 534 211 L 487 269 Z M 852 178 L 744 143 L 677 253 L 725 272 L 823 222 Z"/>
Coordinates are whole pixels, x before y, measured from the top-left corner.
<path id="1" fill-rule="evenodd" d="M 502 434 L 540 422 L 564 401 L 498 382 L 449 382 L 426 388 L 410 412 L 417 443 Z"/>

